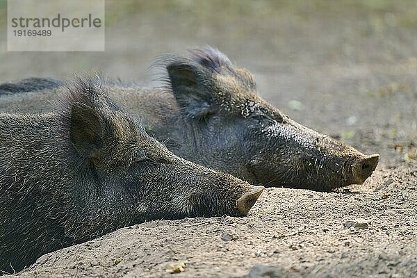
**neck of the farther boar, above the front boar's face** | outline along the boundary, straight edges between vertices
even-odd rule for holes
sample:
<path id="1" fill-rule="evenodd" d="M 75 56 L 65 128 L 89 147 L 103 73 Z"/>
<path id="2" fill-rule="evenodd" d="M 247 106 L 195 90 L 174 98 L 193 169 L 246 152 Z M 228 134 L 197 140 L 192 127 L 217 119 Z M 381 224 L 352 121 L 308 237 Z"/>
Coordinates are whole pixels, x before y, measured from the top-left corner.
<path id="1" fill-rule="evenodd" d="M 245 171 L 244 159 L 228 163 L 224 156 L 224 142 L 215 142 L 218 136 L 205 138 L 199 133 L 199 123 L 181 114 L 172 92 L 154 88 L 120 88 L 109 87 L 112 99 L 119 101 L 136 114 L 147 133 L 158 141 L 164 142 L 171 152 L 211 167 L 215 170 L 226 170 L 241 179 L 251 180 L 254 177 Z M 210 146 L 210 149 L 207 149 Z M 207 152 L 209 151 L 209 152 Z"/>

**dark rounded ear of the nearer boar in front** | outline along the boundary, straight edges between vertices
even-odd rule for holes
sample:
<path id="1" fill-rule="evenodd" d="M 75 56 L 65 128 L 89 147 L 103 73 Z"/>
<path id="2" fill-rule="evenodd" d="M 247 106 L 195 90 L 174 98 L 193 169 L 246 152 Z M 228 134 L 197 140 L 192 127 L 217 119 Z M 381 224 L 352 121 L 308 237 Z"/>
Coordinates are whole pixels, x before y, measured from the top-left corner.
<path id="1" fill-rule="evenodd" d="M 103 120 L 96 111 L 76 102 L 71 107 L 70 139 L 80 156 L 97 158 L 102 145 Z"/>

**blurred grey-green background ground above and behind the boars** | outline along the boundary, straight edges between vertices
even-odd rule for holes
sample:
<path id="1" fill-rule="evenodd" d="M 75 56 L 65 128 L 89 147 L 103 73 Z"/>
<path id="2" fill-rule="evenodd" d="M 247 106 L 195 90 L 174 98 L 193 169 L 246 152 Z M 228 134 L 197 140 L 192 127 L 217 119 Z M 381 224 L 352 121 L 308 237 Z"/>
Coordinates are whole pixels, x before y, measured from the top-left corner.
<path id="1" fill-rule="evenodd" d="M 98 70 L 146 83 L 155 56 L 205 44 L 297 122 L 386 167 L 416 163 L 415 0 L 106 1 L 104 52 L 8 52 L 0 0 L 0 82 Z"/>

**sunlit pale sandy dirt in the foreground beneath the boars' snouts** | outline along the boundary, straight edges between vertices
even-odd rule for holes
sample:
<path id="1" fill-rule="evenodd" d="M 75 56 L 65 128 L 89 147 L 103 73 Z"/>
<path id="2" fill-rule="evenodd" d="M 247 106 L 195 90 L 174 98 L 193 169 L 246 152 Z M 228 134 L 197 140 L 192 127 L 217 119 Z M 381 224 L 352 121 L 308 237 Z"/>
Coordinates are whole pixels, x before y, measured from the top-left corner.
<path id="1" fill-rule="evenodd" d="M 415 276 L 416 165 L 378 170 L 365 186 L 268 188 L 247 218 L 138 224 L 46 254 L 19 276 Z"/>

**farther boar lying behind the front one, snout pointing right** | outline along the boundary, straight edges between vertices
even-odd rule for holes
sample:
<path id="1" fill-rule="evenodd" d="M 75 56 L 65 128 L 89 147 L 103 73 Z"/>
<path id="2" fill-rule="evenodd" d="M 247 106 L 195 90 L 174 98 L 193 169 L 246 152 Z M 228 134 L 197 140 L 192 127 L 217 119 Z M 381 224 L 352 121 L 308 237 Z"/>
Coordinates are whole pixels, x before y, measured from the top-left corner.
<path id="1" fill-rule="evenodd" d="M 174 154 L 255 184 L 312 190 L 361 184 L 377 167 L 379 155 L 366 156 L 297 124 L 261 99 L 252 74 L 220 51 L 190 52 L 158 58 L 162 88 L 107 85 Z M 42 80 L 34 82 L 44 86 Z M 22 83 L 0 85 L 0 109 L 48 109 L 47 100 L 60 90 L 56 82 L 35 92 Z"/>

